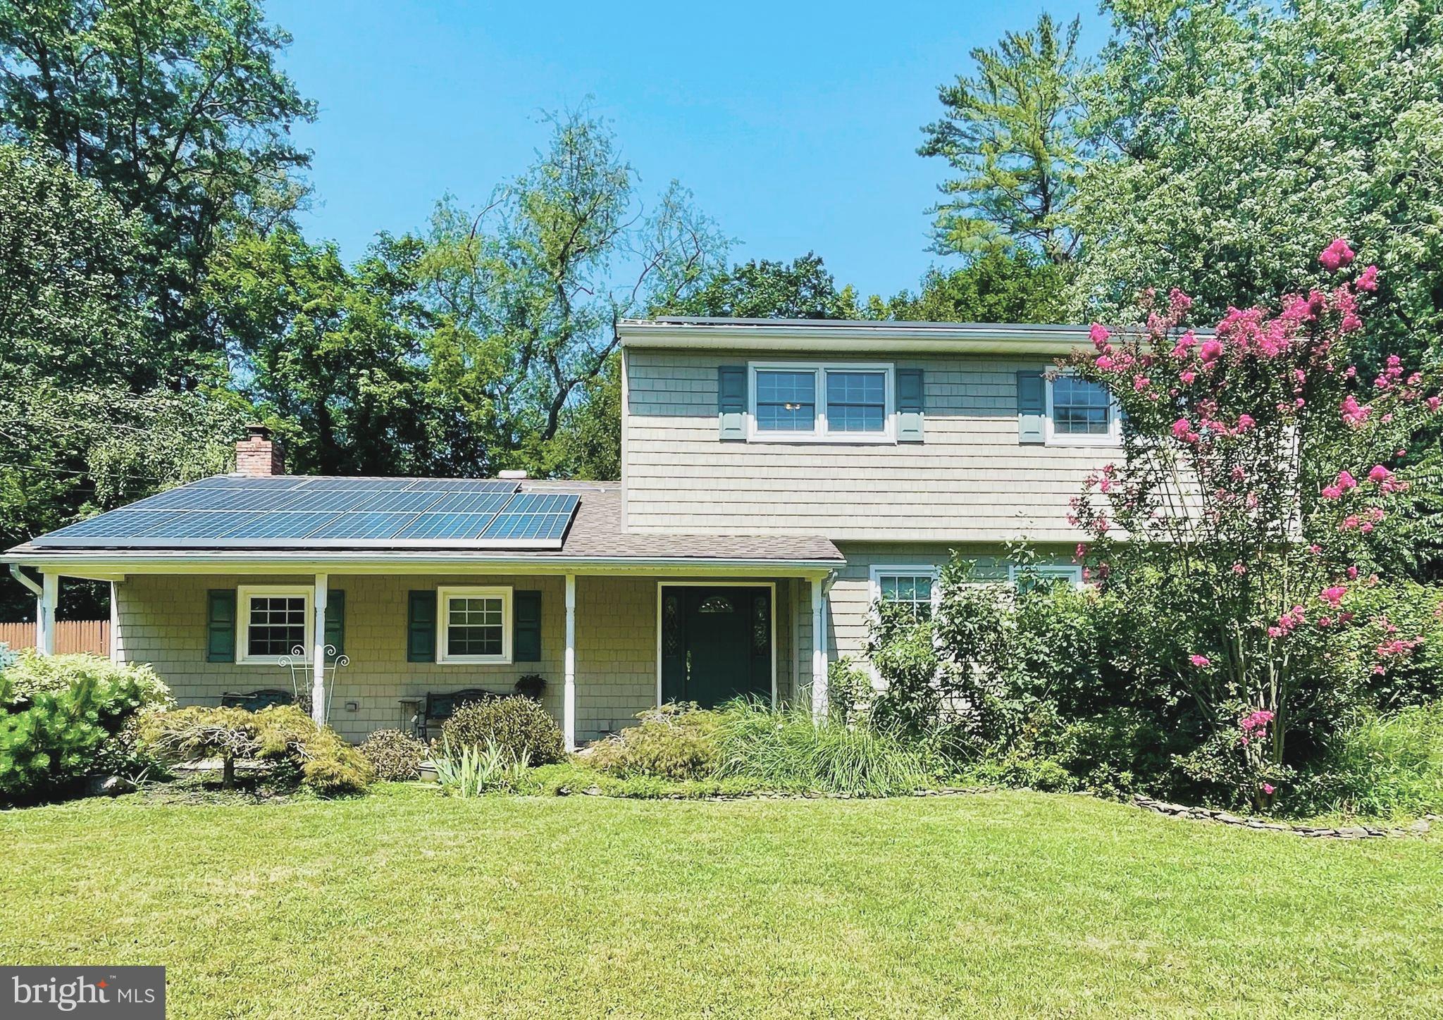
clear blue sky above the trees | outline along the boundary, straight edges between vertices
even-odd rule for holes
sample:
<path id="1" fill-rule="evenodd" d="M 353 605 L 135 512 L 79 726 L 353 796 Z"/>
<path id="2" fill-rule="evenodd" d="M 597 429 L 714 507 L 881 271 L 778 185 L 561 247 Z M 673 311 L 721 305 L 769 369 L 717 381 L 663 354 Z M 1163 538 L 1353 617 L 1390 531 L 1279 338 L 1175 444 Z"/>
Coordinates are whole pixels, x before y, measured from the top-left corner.
<path id="1" fill-rule="evenodd" d="M 283 65 L 320 105 L 304 227 L 356 257 L 417 229 L 452 192 L 479 203 L 545 140 L 540 113 L 590 107 L 654 195 L 680 179 L 740 244 L 808 250 L 838 283 L 890 294 L 939 258 L 928 216 L 945 164 L 915 154 L 937 85 L 1040 10 L 1095 3 L 463 3 L 271 0 Z"/>

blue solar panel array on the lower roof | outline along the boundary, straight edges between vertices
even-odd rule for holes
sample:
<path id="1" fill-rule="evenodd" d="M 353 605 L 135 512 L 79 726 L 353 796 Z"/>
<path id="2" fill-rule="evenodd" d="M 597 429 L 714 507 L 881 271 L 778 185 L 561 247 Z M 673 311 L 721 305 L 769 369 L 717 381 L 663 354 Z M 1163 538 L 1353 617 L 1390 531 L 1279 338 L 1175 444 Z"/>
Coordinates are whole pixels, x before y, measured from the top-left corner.
<path id="1" fill-rule="evenodd" d="M 517 482 L 221 475 L 33 540 L 126 548 L 561 548 L 580 499 Z"/>

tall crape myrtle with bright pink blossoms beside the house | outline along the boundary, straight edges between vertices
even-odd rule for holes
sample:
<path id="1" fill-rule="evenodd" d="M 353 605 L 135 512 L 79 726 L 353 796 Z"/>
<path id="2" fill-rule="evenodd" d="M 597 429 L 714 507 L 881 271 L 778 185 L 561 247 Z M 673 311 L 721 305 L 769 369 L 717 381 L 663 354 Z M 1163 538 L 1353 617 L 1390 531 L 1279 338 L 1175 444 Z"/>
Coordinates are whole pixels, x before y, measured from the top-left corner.
<path id="1" fill-rule="evenodd" d="M 1424 639 L 1368 589 L 1416 495 L 1410 440 L 1439 411 L 1436 378 L 1397 356 L 1359 378 L 1378 270 L 1355 273 L 1342 239 L 1320 264 L 1307 293 L 1229 309 L 1212 332 L 1188 327 L 1182 291 L 1152 296 L 1146 325 L 1094 325 L 1063 369 L 1124 416 L 1123 459 L 1074 501 L 1076 555 L 1172 649 L 1208 730 L 1183 766 L 1263 808 L 1291 744 L 1315 750 Z"/>

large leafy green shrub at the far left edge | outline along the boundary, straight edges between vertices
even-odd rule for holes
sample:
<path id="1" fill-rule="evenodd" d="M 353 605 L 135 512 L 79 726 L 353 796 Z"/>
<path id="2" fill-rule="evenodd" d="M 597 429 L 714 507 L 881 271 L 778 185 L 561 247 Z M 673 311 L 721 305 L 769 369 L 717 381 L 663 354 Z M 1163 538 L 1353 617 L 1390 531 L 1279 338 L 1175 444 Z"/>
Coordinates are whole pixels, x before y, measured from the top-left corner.
<path id="1" fill-rule="evenodd" d="M 139 770 L 128 727 L 169 698 L 146 667 L 22 655 L 0 672 L 0 799 L 53 795 L 102 770 Z"/>

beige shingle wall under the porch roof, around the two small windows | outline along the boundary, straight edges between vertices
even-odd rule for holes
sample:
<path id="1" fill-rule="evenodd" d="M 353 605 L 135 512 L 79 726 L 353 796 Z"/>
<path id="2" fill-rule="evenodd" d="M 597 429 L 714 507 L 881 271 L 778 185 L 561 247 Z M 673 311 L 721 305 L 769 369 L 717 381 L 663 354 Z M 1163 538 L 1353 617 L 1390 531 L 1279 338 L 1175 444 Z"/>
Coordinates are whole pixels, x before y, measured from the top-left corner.
<path id="1" fill-rule="evenodd" d="M 760 580 L 760 579 L 758 579 Z M 136 574 L 118 586 L 120 641 L 124 662 L 149 662 L 180 704 L 215 705 L 225 691 L 266 687 L 289 690 L 290 674 L 274 665 L 206 662 L 206 592 L 234 589 L 237 577 Z M 307 577 L 247 577 L 245 584 L 306 584 Z M 541 592 L 541 661 L 512 665 L 437 665 L 405 659 L 405 600 L 411 590 L 443 584 L 498 584 Z M 346 655 L 330 698 L 330 723 L 348 740 L 405 720 L 403 697 L 429 691 L 483 687 L 509 691 L 522 674 L 547 681 L 543 704 L 561 717 L 566 651 L 564 580 L 558 576 L 346 576 L 332 574 L 332 589 L 346 593 Z M 778 583 L 778 690 L 792 690 L 797 646 L 789 587 Z M 810 645 L 808 645 L 810 648 Z M 657 579 L 592 577 L 576 580 L 576 736 L 595 740 L 629 726 L 657 704 Z M 355 701 L 356 711 L 346 711 Z"/>

